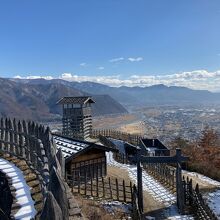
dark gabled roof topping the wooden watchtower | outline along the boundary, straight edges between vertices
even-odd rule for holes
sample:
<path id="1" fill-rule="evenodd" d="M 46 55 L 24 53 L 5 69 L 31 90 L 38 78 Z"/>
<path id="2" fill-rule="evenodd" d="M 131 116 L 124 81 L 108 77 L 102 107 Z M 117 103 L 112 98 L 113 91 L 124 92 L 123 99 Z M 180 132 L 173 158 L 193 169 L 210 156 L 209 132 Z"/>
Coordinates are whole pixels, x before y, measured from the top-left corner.
<path id="1" fill-rule="evenodd" d="M 57 104 L 86 104 L 86 103 L 95 103 L 95 101 L 90 96 L 72 96 L 72 97 L 63 97 Z"/>

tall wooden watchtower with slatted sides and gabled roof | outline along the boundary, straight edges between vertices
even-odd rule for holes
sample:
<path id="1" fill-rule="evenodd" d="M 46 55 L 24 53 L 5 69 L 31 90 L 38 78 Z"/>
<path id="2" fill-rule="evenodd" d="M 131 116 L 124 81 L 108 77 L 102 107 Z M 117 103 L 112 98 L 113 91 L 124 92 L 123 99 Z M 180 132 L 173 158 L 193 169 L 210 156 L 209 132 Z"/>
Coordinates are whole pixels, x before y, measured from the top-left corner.
<path id="1" fill-rule="evenodd" d="M 63 135 L 85 140 L 92 132 L 91 104 L 89 96 L 63 97 L 57 104 L 63 106 Z"/>

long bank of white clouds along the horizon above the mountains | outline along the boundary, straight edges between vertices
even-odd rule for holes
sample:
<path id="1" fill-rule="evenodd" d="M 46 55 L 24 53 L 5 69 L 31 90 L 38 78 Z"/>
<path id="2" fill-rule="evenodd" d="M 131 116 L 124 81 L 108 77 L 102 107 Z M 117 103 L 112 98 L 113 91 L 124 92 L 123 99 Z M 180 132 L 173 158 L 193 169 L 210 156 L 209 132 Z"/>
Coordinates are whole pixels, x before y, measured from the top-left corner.
<path id="1" fill-rule="evenodd" d="M 45 78 L 51 79 L 51 76 L 28 76 L 15 78 Z M 63 73 L 60 79 L 68 81 L 91 81 L 110 86 L 151 86 L 155 84 L 164 84 L 167 86 L 184 86 L 192 89 L 206 89 L 210 91 L 220 91 L 220 70 L 209 72 L 207 70 L 195 70 L 166 75 L 138 75 L 131 74 L 126 79 L 120 75 L 101 75 L 101 76 L 78 76 L 72 73 Z"/>

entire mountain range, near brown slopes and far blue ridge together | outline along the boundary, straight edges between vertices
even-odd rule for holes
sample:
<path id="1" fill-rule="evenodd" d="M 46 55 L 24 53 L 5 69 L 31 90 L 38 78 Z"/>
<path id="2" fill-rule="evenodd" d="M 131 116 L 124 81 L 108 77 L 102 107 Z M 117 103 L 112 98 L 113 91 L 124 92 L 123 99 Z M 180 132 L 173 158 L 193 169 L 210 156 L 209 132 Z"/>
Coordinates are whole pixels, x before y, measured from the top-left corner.
<path id="1" fill-rule="evenodd" d="M 52 120 L 61 117 L 56 105 L 63 96 L 91 95 L 94 115 L 123 114 L 143 106 L 220 104 L 220 93 L 185 87 L 111 87 L 94 82 L 69 82 L 61 79 L 0 78 L 0 115 Z"/>

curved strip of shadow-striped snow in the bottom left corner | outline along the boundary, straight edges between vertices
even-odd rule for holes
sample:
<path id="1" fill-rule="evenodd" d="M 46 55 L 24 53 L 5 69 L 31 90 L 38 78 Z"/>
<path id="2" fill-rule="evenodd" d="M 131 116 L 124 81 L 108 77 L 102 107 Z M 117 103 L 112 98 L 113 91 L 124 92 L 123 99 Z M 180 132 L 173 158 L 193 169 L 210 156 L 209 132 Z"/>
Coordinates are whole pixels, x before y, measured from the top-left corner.
<path id="1" fill-rule="evenodd" d="M 37 212 L 31 198 L 30 187 L 26 184 L 21 170 L 2 158 L 0 158 L 0 170 L 12 180 L 12 186 L 16 189 L 15 197 L 20 208 L 14 215 L 15 219 L 29 220 L 34 218 Z"/>

